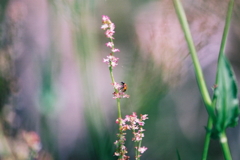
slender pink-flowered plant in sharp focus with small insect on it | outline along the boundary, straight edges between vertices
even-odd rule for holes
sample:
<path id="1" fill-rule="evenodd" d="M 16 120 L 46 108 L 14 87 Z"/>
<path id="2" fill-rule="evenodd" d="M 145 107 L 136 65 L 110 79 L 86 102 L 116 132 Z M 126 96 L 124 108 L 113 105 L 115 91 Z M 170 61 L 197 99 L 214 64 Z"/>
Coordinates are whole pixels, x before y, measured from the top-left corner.
<path id="1" fill-rule="evenodd" d="M 129 98 L 130 96 L 125 93 L 127 90 L 127 84 L 124 82 L 121 82 L 121 84 L 117 83 L 113 76 L 113 68 L 118 65 L 118 59 L 114 56 L 115 52 L 120 52 L 119 49 L 114 47 L 113 42 L 113 35 L 115 33 L 115 25 L 111 22 L 110 18 L 108 16 L 103 15 L 102 16 L 102 26 L 101 29 L 106 30 L 105 35 L 107 38 L 110 39 L 110 42 L 106 43 L 106 46 L 111 49 L 110 55 L 107 56 L 107 58 L 103 59 L 103 62 L 108 64 L 110 77 L 112 80 L 112 85 L 114 87 L 114 93 L 113 98 L 117 101 L 117 108 L 118 108 L 118 119 L 116 120 L 116 123 L 119 124 L 119 133 L 117 134 L 118 140 L 114 142 L 117 149 L 114 153 L 115 156 L 118 156 L 119 160 L 126 160 L 130 159 L 129 156 L 126 154 L 127 148 L 125 146 L 126 141 L 126 131 L 131 130 L 133 133 L 132 141 L 135 143 L 135 159 L 140 160 L 141 154 L 144 153 L 147 148 L 145 146 L 141 147 L 142 138 L 144 137 L 143 126 L 145 124 L 145 120 L 148 119 L 147 114 L 140 115 L 140 119 L 137 117 L 136 113 L 134 112 L 132 115 L 126 115 L 125 119 L 122 119 L 121 114 L 121 105 L 120 105 L 120 99 L 121 98 Z"/>

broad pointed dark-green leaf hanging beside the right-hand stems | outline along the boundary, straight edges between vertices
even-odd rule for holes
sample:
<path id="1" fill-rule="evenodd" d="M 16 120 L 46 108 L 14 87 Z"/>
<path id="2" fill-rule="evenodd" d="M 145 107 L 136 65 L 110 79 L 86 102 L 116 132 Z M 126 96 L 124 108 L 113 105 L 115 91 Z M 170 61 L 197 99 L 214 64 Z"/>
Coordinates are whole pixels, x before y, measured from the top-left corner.
<path id="1" fill-rule="evenodd" d="M 227 127 L 236 126 L 240 113 L 238 89 L 234 72 L 224 54 L 219 59 L 214 100 L 216 100 L 214 126 L 217 132 L 220 133 Z"/>

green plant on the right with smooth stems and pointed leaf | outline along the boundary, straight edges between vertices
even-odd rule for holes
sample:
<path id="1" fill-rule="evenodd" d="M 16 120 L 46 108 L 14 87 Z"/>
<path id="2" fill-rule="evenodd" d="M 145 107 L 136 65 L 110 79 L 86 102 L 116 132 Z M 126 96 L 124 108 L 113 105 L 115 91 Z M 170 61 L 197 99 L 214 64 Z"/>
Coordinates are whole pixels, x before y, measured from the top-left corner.
<path id="1" fill-rule="evenodd" d="M 228 12 L 225 20 L 225 27 L 218 57 L 218 68 L 213 87 L 213 98 L 210 98 L 205 79 L 197 57 L 196 49 L 192 40 L 187 18 L 180 0 L 173 0 L 175 10 L 181 23 L 190 54 L 193 60 L 195 74 L 202 94 L 209 119 L 206 127 L 206 137 L 202 160 L 207 159 L 210 138 L 218 138 L 222 146 L 226 160 L 231 160 L 231 153 L 228 146 L 226 129 L 234 127 L 238 123 L 239 102 L 237 98 L 237 85 L 232 67 L 224 55 L 234 0 L 229 1 Z"/>

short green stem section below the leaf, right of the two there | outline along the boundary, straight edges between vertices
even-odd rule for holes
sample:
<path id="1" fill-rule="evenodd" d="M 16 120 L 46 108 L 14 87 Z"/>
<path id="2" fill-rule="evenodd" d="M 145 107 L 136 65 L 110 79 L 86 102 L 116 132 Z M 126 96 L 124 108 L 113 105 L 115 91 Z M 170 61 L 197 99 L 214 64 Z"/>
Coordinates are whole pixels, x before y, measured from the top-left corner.
<path id="1" fill-rule="evenodd" d="M 228 147 L 226 132 L 224 131 L 220 133 L 219 137 L 225 160 L 232 160 L 230 149 Z"/>

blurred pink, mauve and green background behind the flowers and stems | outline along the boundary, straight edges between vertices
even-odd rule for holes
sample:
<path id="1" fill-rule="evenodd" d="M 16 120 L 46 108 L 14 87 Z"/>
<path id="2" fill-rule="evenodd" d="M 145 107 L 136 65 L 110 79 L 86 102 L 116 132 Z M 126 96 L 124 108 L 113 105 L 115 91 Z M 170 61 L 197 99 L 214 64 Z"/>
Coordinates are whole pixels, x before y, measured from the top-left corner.
<path id="1" fill-rule="evenodd" d="M 209 91 L 227 1 L 183 0 Z M 226 53 L 239 82 L 239 7 Z M 26 159 L 22 131 L 41 137 L 39 159 L 110 160 L 116 140 L 116 101 L 101 16 L 116 25 L 117 82 L 128 84 L 123 116 L 148 114 L 142 159 L 200 159 L 207 123 L 191 59 L 168 0 L 1 0 L 0 159 Z M 239 126 L 228 132 L 239 159 Z M 134 148 L 128 137 L 133 159 Z M 212 141 L 209 159 L 223 159 Z"/>

